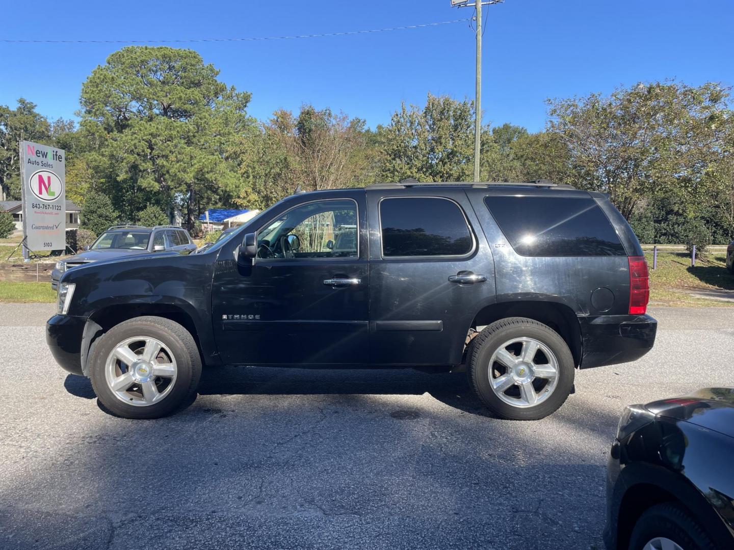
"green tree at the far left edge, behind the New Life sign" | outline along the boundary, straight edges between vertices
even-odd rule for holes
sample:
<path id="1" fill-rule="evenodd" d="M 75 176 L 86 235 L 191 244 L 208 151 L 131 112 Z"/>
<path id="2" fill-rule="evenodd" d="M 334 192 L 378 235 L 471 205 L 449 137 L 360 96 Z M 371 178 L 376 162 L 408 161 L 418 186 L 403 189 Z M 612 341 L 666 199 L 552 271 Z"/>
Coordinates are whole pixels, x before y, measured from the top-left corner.
<path id="1" fill-rule="evenodd" d="M 53 142 L 46 117 L 36 112 L 35 103 L 21 98 L 15 109 L 0 105 L 0 200 L 21 199 L 18 143 L 23 140 Z"/>

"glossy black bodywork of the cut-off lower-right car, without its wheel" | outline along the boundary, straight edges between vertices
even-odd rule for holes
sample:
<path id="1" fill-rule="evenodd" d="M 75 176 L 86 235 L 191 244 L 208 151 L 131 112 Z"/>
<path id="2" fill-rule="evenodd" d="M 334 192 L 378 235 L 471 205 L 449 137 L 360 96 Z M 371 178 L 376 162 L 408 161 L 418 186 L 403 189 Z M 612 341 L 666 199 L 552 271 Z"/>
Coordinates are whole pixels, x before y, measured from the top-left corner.
<path id="1" fill-rule="evenodd" d="M 651 486 L 686 507 L 717 548 L 734 548 L 734 438 L 725 433 L 732 430 L 734 389 L 702 389 L 644 408 L 653 421 L 614 441 L 609 456 L 607 548 L 627 548 L 625 530 L 618 540 L 623 504 L 630 505 L 625 495 L 640 488 L 650 494 Z"/>

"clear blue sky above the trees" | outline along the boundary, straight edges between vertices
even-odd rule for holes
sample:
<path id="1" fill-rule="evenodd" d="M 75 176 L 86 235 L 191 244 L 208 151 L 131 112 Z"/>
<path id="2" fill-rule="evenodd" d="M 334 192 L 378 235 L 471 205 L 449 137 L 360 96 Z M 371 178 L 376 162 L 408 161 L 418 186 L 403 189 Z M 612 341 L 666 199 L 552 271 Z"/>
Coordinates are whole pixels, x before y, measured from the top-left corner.
<path id="1" fill-rule="evenodd" d="M 0 0 L 0 40 L 183 40 L 382 29 L 469 18 L 449 0 Z M 484 7 L 484 123 L 542 130 L 546 98 L 675 78 L 734 85 L 734 0 L 506 0 Z M 0 104 L 73 118 L 81 85 L 120 44 L 0 42 Z M 468 22 L 336 37 L 183 43 L 252 92 L 249 113 L 303 103 L 375 128 L 426 94 L 473 98 Z"/>

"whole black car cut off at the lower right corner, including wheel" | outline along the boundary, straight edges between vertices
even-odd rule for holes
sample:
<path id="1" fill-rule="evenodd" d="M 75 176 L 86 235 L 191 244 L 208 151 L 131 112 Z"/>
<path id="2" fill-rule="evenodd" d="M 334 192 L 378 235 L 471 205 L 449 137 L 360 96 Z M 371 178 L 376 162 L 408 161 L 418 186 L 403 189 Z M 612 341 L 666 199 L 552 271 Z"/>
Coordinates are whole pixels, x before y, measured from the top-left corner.
<path id="1" fill-rule="evenodd" d="M 625 408 L 607 478 L 609 550 L 734 549 L 734 389 Z"/>

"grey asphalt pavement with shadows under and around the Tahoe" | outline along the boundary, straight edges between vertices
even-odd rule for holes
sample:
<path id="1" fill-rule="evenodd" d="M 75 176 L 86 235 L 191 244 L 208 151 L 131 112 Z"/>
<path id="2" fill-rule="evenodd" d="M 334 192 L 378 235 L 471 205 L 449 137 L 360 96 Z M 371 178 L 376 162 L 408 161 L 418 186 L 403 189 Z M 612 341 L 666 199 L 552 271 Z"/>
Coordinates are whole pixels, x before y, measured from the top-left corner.
<path id="1" fill-rule="evenodd" d="M 117 419 L 0 304 L 0 549 L 602 549 L 622 406 L 734 386 L 734 309 L 655 308 L 653 351 L 576 373 L 537 422 L 464 375 L 225 368 L 172 417 Z"/>

